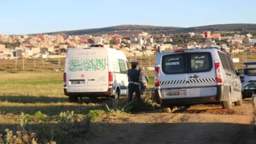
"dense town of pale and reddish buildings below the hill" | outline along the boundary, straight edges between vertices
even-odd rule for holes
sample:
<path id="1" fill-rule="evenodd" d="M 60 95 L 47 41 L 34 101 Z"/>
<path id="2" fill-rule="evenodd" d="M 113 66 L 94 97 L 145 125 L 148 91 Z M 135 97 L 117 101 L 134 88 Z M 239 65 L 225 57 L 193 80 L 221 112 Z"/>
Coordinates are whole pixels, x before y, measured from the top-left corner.
<path id="1" fill-rule="evenodd" d="M 185 39 L 185 42 L 180 41 L 181 37 L 183 40 Z M 169 35 L 138 32 L 138 34 L 129 37 L 117 34 L 103 34 L 97 37 L 92 35 L 9 36 L 0 34 L 0 58 L 65 56 L 69 48 L 85 48 L 92 43 L 116 48 L 123 51 L 127 56 L 154 55 L 163 51 L 204 47 L 219 47 L 227 53 L 238 53 L 249 49 L 254 50 L 256 39 L 251 37 L 250 33 L 221 37 L 221 33 L 211 33 L 210 31 Z"/>

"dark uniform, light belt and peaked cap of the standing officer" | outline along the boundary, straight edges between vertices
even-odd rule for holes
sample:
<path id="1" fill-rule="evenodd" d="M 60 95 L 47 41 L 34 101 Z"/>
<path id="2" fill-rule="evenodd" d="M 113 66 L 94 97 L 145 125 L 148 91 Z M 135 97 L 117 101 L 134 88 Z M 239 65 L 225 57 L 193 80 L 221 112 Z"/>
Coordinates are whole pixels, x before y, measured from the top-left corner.
<path id="1" fill-rule="evenodd" d="M 138 62 L 131 62 L 132 65 L 137 66 Z M 140 98 L 140 71 L 136 70 L 136 68 L 128 69 L 127 73 L 128 75 L 128 101 L 132 101 L 133 98 L 133 92 L 136 94 L 136 98 L 138 101 L 141 101 Z"/>

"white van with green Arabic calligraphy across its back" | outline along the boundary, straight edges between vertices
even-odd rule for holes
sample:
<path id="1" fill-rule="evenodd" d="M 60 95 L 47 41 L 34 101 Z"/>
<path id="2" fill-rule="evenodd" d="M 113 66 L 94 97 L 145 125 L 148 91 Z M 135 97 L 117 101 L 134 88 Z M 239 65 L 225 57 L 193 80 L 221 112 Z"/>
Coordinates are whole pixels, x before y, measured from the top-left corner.
<path id="1" fill-rule="evenodd" d="M 122 51 L 95 46 L 70 48 L 64 64 L 64 94 L 78 97 L 123 96 L 128 93 L 128 60 Z"/>

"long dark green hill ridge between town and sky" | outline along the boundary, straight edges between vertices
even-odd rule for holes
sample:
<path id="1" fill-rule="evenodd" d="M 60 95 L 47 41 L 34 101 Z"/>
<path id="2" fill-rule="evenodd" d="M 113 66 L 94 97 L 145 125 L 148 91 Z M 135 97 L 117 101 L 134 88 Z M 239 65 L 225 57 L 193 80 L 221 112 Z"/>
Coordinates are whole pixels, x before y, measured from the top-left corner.
<path id="1" fill-rule="evenodd" d="M 256 24 L 221 24 L 201 27 L 157 27 L 147 25 L 120 25 L 113 27 L 92 28 L 74 31 L 48 32 L 43 34 L 66 34 L 66 35 L 84 35 L 84 34 L 125 34 L 132 35 L 138 32 L 149 33 L 183 33 L 183 32 L 203 32 L 203 31 L 239 31 L 241 33 L 256 33 Z"/>

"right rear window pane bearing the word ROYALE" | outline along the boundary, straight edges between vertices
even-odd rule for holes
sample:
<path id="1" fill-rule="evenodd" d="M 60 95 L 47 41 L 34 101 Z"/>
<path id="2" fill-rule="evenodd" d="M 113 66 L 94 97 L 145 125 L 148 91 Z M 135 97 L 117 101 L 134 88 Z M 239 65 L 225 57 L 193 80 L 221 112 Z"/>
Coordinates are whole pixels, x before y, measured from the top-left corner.
<path id="1" fill-rule="evenodd" d="M 190 62 L 193 73 L 210 71 L 213 67 L 211 53 L 191 53 Z"/>

